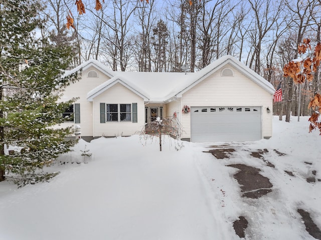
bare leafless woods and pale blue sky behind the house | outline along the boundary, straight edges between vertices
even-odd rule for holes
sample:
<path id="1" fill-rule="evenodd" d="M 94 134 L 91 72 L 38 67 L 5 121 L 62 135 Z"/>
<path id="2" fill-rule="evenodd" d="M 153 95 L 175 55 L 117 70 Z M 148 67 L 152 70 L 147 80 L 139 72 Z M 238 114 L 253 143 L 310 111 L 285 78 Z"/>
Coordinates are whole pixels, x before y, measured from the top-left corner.
<path id="1" fill-rule="evenodd" d="M 73 66 L 94 58 L 115 71 L 183 71 L 189 64 L 194 72 L 230 54 L 275 88 L 282 81 L 273 114 L 287 121 L 297 115 L 299 85 L 283 76 L 283 66 L 300 57 L 303 38 L 320 42 L 321 0 L 105 0 L 98 11 L 94 0 L 83 0 L 81 15 L 74 3 L 49 0 L 39 13 L 47 22 L 41 36 L 74 47 Z M 67 14 L 75 29 L 66 28 Z M 310 114 L 319 84 L 318 68 L 301 86 L 301 115 Z"/>

